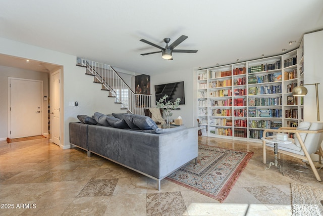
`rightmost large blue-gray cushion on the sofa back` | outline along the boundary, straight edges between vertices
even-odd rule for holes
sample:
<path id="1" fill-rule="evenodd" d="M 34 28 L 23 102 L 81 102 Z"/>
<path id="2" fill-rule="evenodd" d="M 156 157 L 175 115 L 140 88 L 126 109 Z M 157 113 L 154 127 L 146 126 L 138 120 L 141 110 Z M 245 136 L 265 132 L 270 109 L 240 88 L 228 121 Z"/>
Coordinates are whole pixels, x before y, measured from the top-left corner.
<path id="1" fill-rule="evenodd" d="M 123 119 L 132 129 L 154 130 L 157 129 L 157 124 L 148 116 L 124 114 Z"/>

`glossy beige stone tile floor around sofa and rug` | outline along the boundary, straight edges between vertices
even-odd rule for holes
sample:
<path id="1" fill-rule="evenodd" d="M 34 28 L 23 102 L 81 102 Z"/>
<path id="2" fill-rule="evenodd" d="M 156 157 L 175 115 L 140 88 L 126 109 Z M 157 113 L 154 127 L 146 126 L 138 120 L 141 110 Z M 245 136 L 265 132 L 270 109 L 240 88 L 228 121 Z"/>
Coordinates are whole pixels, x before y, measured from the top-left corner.
<path id="1" fill-rule="evenodd" d="M 0 215 L 291 215 L 290 183 L 323 188 L 284 155 L 285 176 L 276 167 L 264 170 L 260 143 L 206 137 L 199 143 L 254 152 L 224 203 L 167 180 L 158 191 L 154 180 L 48 139 L 0 141 Z"/>

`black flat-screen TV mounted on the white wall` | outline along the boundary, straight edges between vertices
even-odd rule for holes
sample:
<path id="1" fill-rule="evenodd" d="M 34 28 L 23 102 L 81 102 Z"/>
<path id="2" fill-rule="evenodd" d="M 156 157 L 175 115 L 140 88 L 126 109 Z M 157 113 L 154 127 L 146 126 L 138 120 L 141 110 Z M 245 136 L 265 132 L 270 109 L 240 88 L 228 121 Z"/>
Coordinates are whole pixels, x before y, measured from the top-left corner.
<path id="1" fill-rule="evenodd" d="M 155 85 L 156 101 L 164 95 L 169 96 L 167 101 L 175 102 L 177 98 L 180 98 L 180 104 L 185 104 L 184 81 Z"/>

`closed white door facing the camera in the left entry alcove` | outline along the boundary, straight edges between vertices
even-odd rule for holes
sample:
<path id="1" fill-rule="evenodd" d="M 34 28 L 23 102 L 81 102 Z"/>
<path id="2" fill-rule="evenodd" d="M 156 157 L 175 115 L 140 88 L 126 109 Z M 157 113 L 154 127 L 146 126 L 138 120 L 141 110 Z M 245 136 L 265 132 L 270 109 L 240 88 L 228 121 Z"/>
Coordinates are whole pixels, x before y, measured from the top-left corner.
<path id="1" fill-rule="evenodd" d="M 41 135 L 42 81 L 10 78 L 10 138 Z"/>

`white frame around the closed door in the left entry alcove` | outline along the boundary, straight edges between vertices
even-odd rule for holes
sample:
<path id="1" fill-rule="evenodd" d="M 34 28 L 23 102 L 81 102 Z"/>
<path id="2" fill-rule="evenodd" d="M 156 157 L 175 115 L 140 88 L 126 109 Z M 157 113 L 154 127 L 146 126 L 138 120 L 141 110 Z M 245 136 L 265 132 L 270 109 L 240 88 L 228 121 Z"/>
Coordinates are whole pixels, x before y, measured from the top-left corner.
<path id="1" fill-rule="evenodd" d="M 11 106 L 11 88 L 10 88 L 10 80 L 16 79 L 16 80 L 24 80 L 24 81 L 35 81 L 35 82 L 40 82 L 41 83 L 41 94 L 40 94 L 40 110 L 41 110 L 41 115 L 40 115 L 40 132 L 41 135 L 44 134 L 44 119 L 43 119 L 43 113 L 44 113 L 44 105 L 43 105 L 43 98 L 44 98 L 44 87 L 43 87 L 43 80 L 38 80 L 38 79 L 24 79 L 24 78 L 17 78 L 17 77 L 8 77 L 8 138 L 11 138 L 10 134 L 10 129 L 11 129 L 11 112 L 10 112 L 10 106 Z"/>

